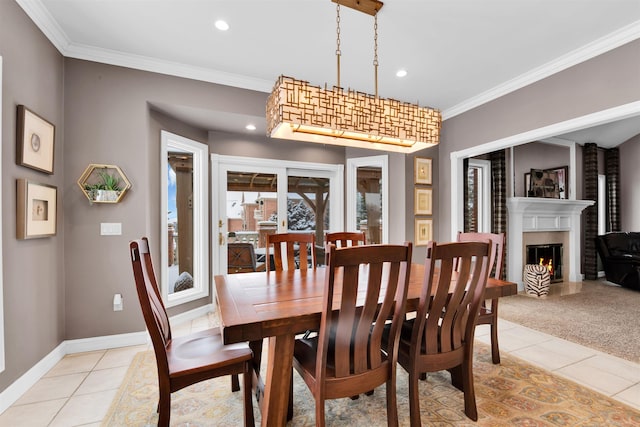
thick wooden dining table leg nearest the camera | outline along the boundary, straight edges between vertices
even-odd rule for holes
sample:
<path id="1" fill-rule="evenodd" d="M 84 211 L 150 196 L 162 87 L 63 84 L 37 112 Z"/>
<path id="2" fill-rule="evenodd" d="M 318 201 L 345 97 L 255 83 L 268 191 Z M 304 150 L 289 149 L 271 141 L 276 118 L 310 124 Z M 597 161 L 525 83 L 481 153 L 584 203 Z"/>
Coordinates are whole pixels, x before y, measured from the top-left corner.
<path id="1" fill-rule="evenodd" d="M 284 426 L 287 422 L 294 342 L 295 335 L 269 338 L 267 379 L 262 401 L 263 426 Z"/>

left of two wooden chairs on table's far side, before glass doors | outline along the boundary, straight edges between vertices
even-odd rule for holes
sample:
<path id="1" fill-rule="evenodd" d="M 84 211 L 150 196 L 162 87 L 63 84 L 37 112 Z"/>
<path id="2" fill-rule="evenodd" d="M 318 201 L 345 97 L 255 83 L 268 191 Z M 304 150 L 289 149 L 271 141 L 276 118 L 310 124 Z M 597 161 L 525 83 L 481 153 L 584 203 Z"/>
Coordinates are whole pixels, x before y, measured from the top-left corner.
<path id="1" fill-rule="evenodd" d="M 316 235 L 314 233 L 267 234 L 266 260 L 270 260 L 271 250 L 273 250 L 275 271 L 316 268 Z M 271 262 L 268 261 L 266 264 L 267 271 L 270 271 Z"/>

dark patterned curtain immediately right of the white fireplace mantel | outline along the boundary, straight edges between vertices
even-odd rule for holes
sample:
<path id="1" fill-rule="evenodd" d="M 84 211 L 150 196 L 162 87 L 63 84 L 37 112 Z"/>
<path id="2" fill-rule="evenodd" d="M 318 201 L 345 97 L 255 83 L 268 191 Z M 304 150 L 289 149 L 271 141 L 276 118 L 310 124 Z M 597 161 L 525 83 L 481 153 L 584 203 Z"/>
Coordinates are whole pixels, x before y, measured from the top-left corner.
<path id="1" fill-rule="evenodd" d="M 584 276 L 598 278 L 598 256 L 595 238 L 598 235 L 598 146 L 587 143 L 582 150 L 584 198 L 596 203 L 584 210 Z"/>

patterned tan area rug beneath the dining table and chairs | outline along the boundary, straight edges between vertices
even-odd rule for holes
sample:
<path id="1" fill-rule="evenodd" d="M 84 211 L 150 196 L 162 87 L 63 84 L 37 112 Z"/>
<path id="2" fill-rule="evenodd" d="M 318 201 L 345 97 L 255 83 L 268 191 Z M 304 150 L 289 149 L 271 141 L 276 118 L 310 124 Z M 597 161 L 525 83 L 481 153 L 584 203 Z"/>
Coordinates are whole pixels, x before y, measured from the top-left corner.
<path id="1" fill-rule="evenodd" d="M 606 396 L 556 377 L 519 359 L 502 355 L 491 363 L 490 351 L 476 344 L 474 358 L 479 419 L 464 415 L 463 394 L 450 384 L 449 374 L 430 374 L 420 382 L 420 409 L 424 426 L 638 426 L 640 412 Z M 407 373 L 398 367 L 398 413 L 409 425 Z M 155 426 L 158 399 L 155 356 L 138 353 L 118 391 L 103 427 Z M 326 406 L 327 425 L 385 426 L 385 387 L 357 400 L 337 399 Z M 172 395 L 171 426 L 242 425 L 242 393 L 231 392 L 229 377 L 187 387 Z M 260 412 L 254 399 L 256 425 Z M 290 426 L 315 425 L 314 401 L 294 373 L 294 417 Z"/>

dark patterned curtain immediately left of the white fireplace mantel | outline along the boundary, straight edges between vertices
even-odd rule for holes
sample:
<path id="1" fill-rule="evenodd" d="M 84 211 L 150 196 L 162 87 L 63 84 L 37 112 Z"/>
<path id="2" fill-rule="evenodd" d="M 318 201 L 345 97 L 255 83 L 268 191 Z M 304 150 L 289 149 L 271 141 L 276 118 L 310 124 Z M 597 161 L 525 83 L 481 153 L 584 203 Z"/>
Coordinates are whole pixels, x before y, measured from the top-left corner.
<path id="1" fill-rule="evenodd" d="M 491 224 L 492 233 L 504 233 L 504 261 L 503 266 L 508 265 L 507 236 L 507 171 L 505 150 L 494 151 L 489 154 L 491 160 L 491 195 L 493 216 Z M 502 278 L 506 277 L 506 267 L 502 269 Z"/>

